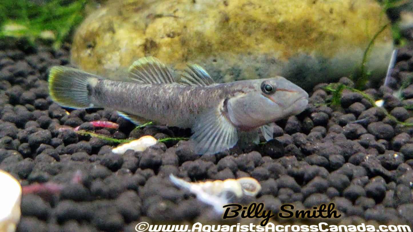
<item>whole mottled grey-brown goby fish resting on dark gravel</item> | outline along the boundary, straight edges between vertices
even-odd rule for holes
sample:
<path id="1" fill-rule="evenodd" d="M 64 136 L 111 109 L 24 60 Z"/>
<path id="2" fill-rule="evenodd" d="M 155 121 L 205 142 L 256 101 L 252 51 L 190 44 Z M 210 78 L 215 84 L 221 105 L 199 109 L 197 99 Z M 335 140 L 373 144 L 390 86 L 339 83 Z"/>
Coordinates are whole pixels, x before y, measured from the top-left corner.
<path id="1" fill-rule="evenodd" d="M 154 57 L 135 61 L 129 82 L 105 80 L 81 70 L 50 70 L 53 101 L 70 108 L 110 108 L 135 124 L 148 121 L 191 128 L 199 154 L 215 154 L 238 143 L 259 143 L 258 130 L 273 138 L 273 122 L 302 112 L 306 91 L 283 77 L 216 84 L 198 65 L 175 80 Z M 178 79 L 178 78 L 177 78 Z"/>

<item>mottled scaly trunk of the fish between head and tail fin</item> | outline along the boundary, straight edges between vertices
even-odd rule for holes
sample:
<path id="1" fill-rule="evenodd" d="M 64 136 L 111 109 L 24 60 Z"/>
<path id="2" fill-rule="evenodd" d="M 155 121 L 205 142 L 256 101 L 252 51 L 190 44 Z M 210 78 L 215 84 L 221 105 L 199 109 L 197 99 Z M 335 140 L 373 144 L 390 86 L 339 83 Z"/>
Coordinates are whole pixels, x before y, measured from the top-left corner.
<path id="1" fill-rule="evenodd" d="M 103 80 L 96 86 L 94 105 L 104 105 L 139 115 L 171 127 L 191 128 L 196 118 L 217 104 L 225 93 L 218 86 L 194 87 L 182 84 L 138 84 Z M 119 109 L 118 109 L 119 110 Z"/>

